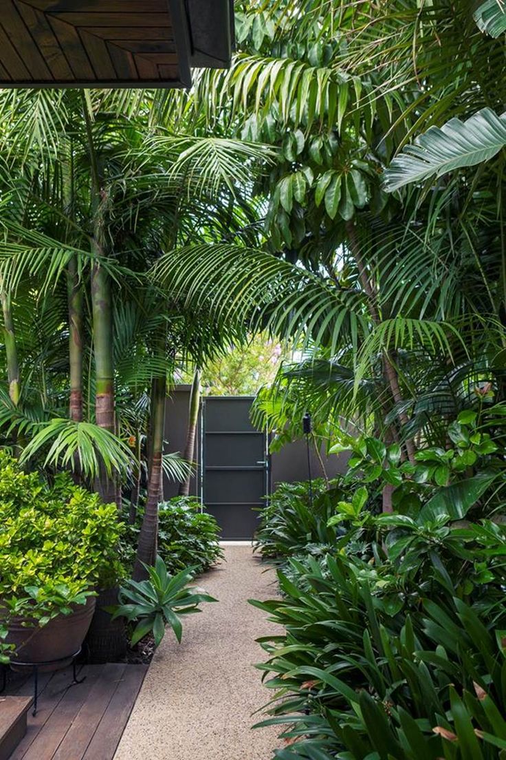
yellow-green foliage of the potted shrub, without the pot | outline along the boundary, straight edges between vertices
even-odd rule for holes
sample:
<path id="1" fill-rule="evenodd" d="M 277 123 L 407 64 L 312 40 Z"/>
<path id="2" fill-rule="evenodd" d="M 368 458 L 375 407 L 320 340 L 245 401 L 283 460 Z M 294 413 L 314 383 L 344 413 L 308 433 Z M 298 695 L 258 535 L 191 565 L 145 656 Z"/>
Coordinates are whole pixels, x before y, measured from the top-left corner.
<path id="1" fill-rule="evenodd" d="M 0 600 L 43 624 L 121 574 L 118 510 L 66 474 L 48 486 L 0 451 Z"/>

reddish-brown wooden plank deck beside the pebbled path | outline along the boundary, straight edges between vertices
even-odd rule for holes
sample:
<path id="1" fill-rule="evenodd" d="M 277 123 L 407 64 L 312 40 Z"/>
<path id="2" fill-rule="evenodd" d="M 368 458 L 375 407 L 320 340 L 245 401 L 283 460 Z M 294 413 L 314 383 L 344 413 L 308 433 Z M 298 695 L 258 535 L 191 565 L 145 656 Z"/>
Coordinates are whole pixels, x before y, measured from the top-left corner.
<path id="1" fill-rule="evenodd" d="M 147 666 L 85 665 L 80 684 L 72 670 L 39 676 L 36 717 L 11 760 L 112 760 L 139 693 Z M 6 694 L 33 693 L 32 678 L 8 683 Z"/>

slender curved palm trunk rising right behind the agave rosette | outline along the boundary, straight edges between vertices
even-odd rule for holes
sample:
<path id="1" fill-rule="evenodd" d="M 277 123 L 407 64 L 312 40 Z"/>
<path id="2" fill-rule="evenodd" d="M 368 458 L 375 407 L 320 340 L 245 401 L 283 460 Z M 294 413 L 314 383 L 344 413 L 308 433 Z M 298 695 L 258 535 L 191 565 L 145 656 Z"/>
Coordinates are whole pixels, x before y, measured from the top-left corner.
<path id="1" fill-rule="evenodd" d="M 162 486 L 162 456 L 165 432 L 165 397 L 167 378 L 154 378 L 151 396 L 152 458 L 149 467 L 146 511 L 140 528 L 137 557 L 134 567 L 134 580 L 146 576 L 145 565 L 153 565 L 156 559 L 158 538 L 158 505 Z"/>

